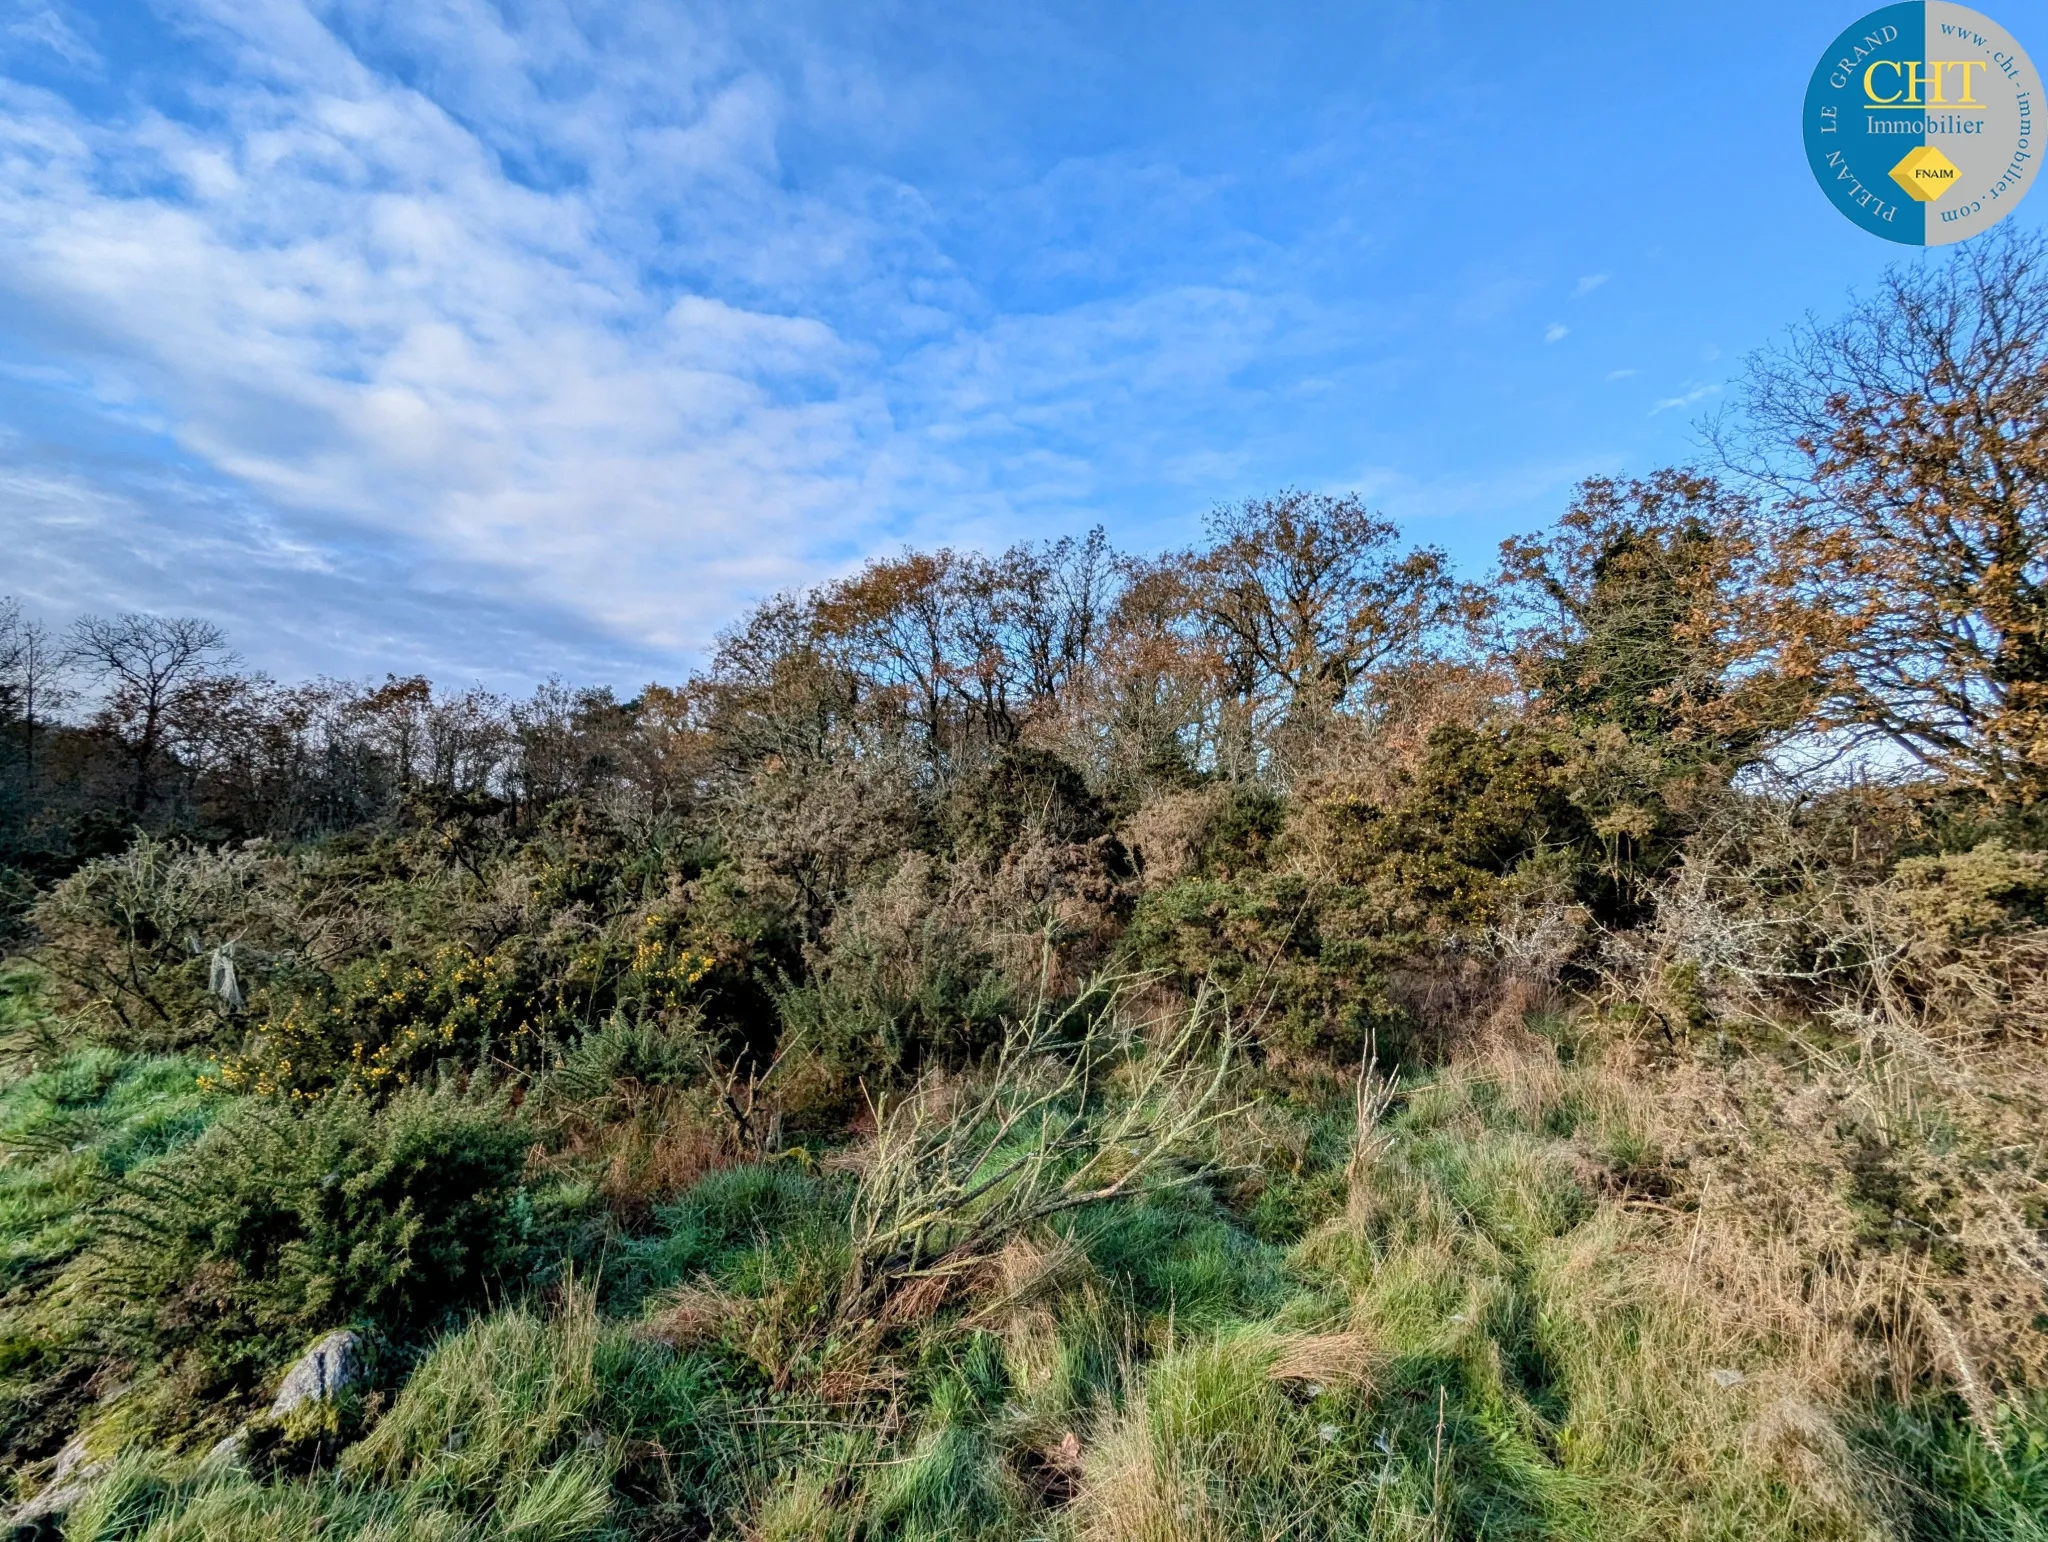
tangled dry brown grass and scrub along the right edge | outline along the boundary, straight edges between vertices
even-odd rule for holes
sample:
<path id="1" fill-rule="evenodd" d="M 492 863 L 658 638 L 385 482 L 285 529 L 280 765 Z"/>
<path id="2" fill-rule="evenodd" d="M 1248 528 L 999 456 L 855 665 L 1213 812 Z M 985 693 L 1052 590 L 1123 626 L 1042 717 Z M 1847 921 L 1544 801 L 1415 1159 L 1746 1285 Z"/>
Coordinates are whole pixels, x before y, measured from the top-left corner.
<path id="1" fill-rule="evenodd" d="M 1995 1440 L 2048 1378 L 2048 858 L 1886 876 L 1755 821 L 1608 948 L 1610 999 L 1651 1008 L 1614 1073 L 1698 1210 L 1681 1282 L 1798 1345 L 1817 1397 L 1950 1386 Z"/>

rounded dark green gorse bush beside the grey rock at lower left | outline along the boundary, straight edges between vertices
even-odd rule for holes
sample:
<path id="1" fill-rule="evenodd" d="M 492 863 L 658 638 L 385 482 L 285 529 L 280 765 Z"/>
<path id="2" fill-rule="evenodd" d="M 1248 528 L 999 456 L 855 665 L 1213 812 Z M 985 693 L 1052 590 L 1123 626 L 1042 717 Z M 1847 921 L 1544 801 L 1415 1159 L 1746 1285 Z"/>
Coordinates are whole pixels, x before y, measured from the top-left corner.
<path id="1" fill-rule="evenodd" d="M 414 1343 L 522 1280 L 526 1145 L 502 1106 L 438 1089 L 244 1104 L 129 1173 L 66 1288 L 111 1352 L 217 1395 L 332 1327 Z"/>

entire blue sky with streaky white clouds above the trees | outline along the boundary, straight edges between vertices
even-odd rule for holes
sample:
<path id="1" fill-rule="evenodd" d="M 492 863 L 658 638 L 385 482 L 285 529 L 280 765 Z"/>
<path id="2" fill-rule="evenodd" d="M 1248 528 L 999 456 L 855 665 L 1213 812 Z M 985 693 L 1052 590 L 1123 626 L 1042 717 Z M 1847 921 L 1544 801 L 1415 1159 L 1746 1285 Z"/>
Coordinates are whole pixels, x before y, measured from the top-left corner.
<path id="1" fill-rule="evenodd" d="M 1477 575 L 1942 260 L 1804 166 L 1864 8 L 0 0 L 0 592 L 631 686 L 1280 485 Z"/>

